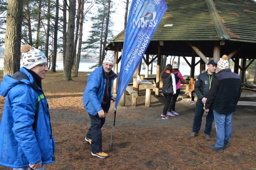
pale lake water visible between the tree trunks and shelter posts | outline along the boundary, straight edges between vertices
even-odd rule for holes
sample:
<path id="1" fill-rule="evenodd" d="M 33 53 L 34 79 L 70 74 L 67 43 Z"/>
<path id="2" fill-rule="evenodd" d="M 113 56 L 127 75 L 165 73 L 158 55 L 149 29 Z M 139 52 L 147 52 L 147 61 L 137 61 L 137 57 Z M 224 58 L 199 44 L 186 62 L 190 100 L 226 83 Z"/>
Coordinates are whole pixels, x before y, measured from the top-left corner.
<path id="1" fill-rule="evenodd" d="M 93 71 L 94 69 L 90 69 L 90 67 L 95 64 L 96 63 L 80 62 L 78 71 Z M 4 60 L 0 59 L 0 68 L 3 68 L 3 65 L 4 65 Z M 63 62 L 56 62 L 56 66 L 57 66 L 56 70 L 63 70 Z M 118 64 L 118 72 L 120 71 L 120 66 L 121 66 L 121 63 Z M 182 75 L 190 75 L 190 67 L 187 65 L 180 65 L 179 71 L 181 72 Z M 153 63 L 152 74 L 156 74 L 156 72 L 157 72 L 156 63 Z M 199 72 L 200 72 L 200 66 L 197 65 L 195 67 L 195 75 L 198 75 Z M 145 70 L 141 69 L 140 74 L 145 74 Z"/>

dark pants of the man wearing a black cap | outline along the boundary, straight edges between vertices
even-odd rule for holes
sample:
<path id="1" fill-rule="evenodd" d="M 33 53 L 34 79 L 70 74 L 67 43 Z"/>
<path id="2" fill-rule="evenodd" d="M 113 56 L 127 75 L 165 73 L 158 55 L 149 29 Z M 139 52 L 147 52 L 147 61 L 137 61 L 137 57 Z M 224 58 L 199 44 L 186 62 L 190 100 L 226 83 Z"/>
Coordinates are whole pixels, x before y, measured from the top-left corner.
<path id="1" fill-rule="evenodd" d="M 203 103 L 200 103 L 200 102 L 196 103 L 196 111 L 195 111 L 194 123 L 193 123 L 193 129 L 192 129 L 193 132 L 198 133 L 201 129 L 202 117 L 205 111 L 203 107 L 204 107 Z M 206 123 L 205 123 L 205 130 L 204 130 L 204 133 L 207 135 L 211 134 L 213 120 L 214 120 L 213 109 L 210 109 L 210 111 L 206 115 Z"/>

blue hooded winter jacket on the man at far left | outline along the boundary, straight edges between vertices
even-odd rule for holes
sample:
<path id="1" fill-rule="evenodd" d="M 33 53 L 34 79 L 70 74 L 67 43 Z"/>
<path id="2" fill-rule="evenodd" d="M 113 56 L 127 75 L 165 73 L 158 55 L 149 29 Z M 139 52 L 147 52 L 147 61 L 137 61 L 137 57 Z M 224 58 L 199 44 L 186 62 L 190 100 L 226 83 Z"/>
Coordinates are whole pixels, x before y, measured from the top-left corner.
<path id="1" fill-rule="evenodd" d="M 25 73 L 29 80 L 16 80 L 5 75 L 0 85 L 0 94 L 6 96 L 0 124 L 0 165 L 10 168 L 55 161 L 55 141 L 47 100 L 32 75 L 23 67 L 20 72 Z M 32 125 L 37 109 L 38 121 L 34 131 Z"/>

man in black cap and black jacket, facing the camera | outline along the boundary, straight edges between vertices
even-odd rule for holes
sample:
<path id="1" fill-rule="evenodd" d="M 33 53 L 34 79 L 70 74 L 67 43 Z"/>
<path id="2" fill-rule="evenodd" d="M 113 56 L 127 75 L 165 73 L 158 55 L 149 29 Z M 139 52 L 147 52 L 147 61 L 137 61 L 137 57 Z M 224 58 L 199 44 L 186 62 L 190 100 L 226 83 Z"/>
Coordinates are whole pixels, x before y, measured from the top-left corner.
<path id="1" fill-rule="evenodd" d="M 193 122 L 193 129 L 192 129 L 191 135 L 189 136 L 190 138 L 194 138 L 197 135 L 199 135 L 199 130 L 201 128 L 202 117 L 204 113 L 204 104 L 206 102 L 206 97 L 208 95 L 209 89 L 211 88 L 211 83 L 215 75 L 216 67 L 217 67 L 216 60 L 209 61 L 207 64 L 207 68 L 208 68 L 207 71 L 199 74 L 195 81 L 195 92 L 197 94 L 197 103 L 196 103 L 196 110 L 195 110 L 195 116 L 194 116 L 194 122 Z M 206 123 L 205 123 L 205 130 L 204 130 L 204 136 L 206 141 L 211 140 L 210 134 L 212 131 L 213 119 L 214 119 L 213 112 L 209 111 L 209 113 L 206 114 Z"/>

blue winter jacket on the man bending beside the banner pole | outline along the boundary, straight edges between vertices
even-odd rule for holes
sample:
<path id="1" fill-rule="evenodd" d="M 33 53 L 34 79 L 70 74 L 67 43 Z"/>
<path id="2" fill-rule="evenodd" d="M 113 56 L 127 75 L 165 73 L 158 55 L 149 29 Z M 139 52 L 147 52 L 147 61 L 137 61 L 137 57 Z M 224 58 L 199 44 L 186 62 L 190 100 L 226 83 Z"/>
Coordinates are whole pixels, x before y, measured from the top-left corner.
<path id="1" fill-rule="evenodd" d="M 83 95 L 83 104 L 86 111 L 91 115 L 96 115 L 98 111 L 102 109 L 101 103 L 103 100 L 104 92 L 106 85 L 108 84 L 107 78 L 103 75 L 103 66 L 96 68 L 89 76 L 87 80 L 87 85 L 84 90 Z M 117 74 L 113 72 L 113 76 L 109 77 L 109 94 L 111 94 L 112 83 L 114 79 L 117 77 Z M 113 95 L 111 94 L 111 97 Z M 110 108 L 110 99 L 108 100 L 107 107 L 105 108 L 105 112 L 108 112 Z"/>

